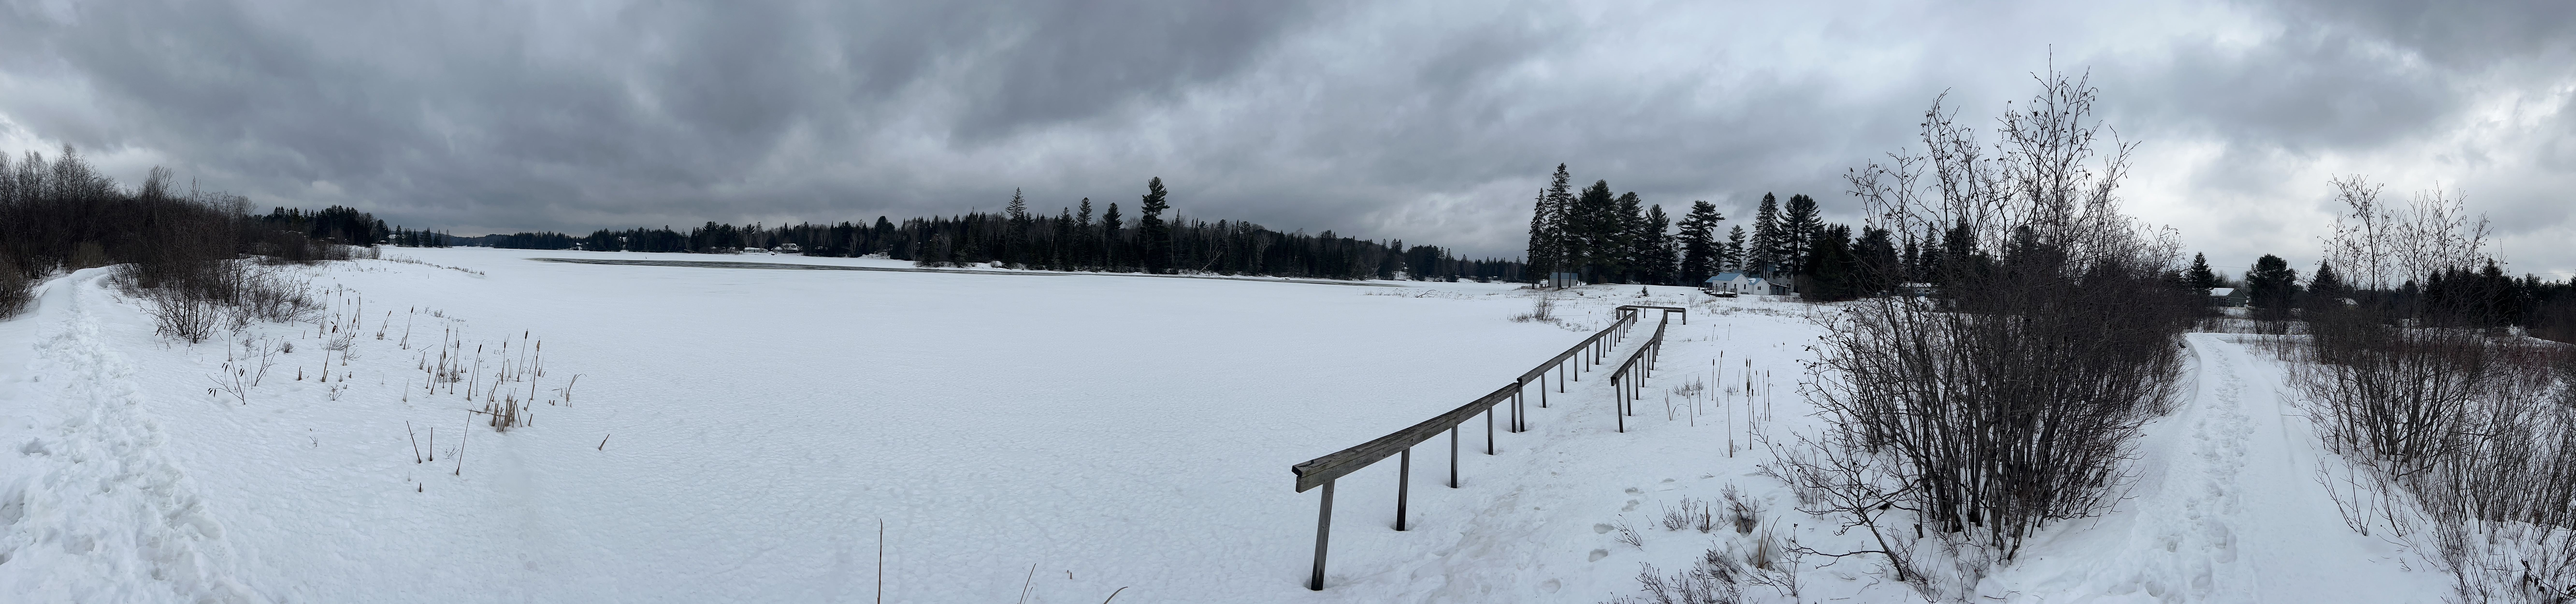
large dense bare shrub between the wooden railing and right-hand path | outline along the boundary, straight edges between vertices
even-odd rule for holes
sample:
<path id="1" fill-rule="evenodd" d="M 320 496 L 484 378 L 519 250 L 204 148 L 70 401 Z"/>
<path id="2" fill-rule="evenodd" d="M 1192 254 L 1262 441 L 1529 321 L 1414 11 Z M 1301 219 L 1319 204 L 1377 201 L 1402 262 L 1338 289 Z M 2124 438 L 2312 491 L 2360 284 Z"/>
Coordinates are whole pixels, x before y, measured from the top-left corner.
<path id="1" fill-rule="evenodd" d="M 1878 534 L 1901 578 L 1914 576 L 1909 532 L 1888 532 L 1886 514 L 1994 560 L 2094 514 L 2138 426 L 2164 413 L 2177 338 L 2200 310 L 2174 279 L 2172 232 L 2120 214 L 2133 145 L 2097 139 L 2094 88 L 2038 80 L 1994 155 L 1935 101 L 1922 152 L 1850 176 L 1873 227 L 1932 253 L 1929 268 L 1878 279 L 1940 294 L 1832 317 L 1801 387 L 1832 428 L 1775 449 L 1772 475 L 1814 501 L 1806 511 Z"/>

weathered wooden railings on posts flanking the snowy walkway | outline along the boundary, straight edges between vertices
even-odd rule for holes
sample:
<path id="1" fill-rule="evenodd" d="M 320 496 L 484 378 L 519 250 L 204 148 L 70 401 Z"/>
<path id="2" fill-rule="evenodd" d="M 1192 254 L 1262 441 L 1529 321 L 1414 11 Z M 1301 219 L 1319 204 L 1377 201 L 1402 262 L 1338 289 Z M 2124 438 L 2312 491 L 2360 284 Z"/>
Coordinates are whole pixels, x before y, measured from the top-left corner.
<path id="1" fill-rule="evenodd" d="M 1631 354 L 1628 361 L 1620 364 L 1620 369 L 1613 372 L 1613 379 L 1610 379 L 1615 385 L 1613 390 L 1620 390 L 1620 405 L 1618 405 L 1618 413 L 1615 413 L 1615 416 L 1620 416 L 1618 426 L 1620 426 L 1620 431 L 1628 431 L 1625 413 L 1631 413 L 1628 410 L 1628 400 L 1633 395 L 1628 395 L 1625 387 L 1636 387 L 1636 379 L 1628 379 L 1623 385 L 1618 377 L 1636 372 L 1638 369 L 1638 359 L 1646 359 L 1649 367 L 1654 364 L 1651 354 L 1646 354 L 1646 351 L 1662 351 L 1664 348 L 1664 325 L 1672 323 L 1672 312 L 1682 312 L 1682 325 L 1690 325 L 1690 312 L 1682 310 L 1682 307 L 1623 305 L 1623 307 L 1618 307 L 1618 323 L 1610 323 L 1610 328 L 1602 328 L 1597 333 L 1592 333 L 1589 338 L 1584 338 L 1584 341 L 1574 343 L 1571 348 L 1551 356 L 1548 361 L 1533 367 L 1530 372 L 1525 372 L 1520 377 L 1512 377 L 1510 385 L 1497 387 L 1494 392 L 1486 392 L 1486 395 L 1481 395 L 1476 400 L 1468 400 L 1461 408 L 1453 408 L 1448 413 L 1432 416 L 1432 418 L 1427 418 L 1422 423 L 1414 423 L 1414 426 L 1406 426 L 1401 431 L 1394 431 L 1394 434 L 1386 434 L 1386 436 L 1378 436 L 1378 439 L 1370 439 L 1370 441 L 1363 441 L 1358 447 L 1340 449 L 1340 452 L 1332 452 L 1332 454 L 1324 454 L 1324 457 L 1314 457 L 1314 459 L 1309 459 L 1303 465 L 1291 465 L 1288 472 L 1296 475 L 1296 493 L 1306 493 L 1309 488 L 1324 488 L 1324 501 L 1321 501 L 1321 506 L 1316 506 L 1316 524 L 1314 524 L 1314 578 L 1306 581 L 1306 589 L 1324 591 L 1324 552 L 1327 552 L 1327 545 L 1332 542 L 1332 483 L 1337 478 L 1358 472 L 1360 467 L 1376 465 L 1376 462 L 1381 462 L 1386 457 L 1396 457 L 1396 529 L 1401 532 L 1404 529 L 1404 503 L 1409 501 L 1412 483 L 1414 483 L 1414 444 L 1430 441 L 1432 436 L 1440 436 L 1443 431 L 1448 431 L 1450 434 L 1450 480 L 1448 483 L 1450 483 L 1450 488 L 1458 488 L 1458 431 L 1461 431 L 1461 423 L 1466 423 L 1466 421 L 1471 421 L 1476 416 L 1484 416 L 1484 454 L 1494 454 L 1494 408 L 1499 408 L 1502 403 L 1512 403 L 1507 408 L 1512 413 L 1510 416 L 1510 431 L 1515 431 L 1515 434 L 1517 431 L 1528 431 L 1530 428 L 1530 413 L 1528 413 L 1528 395 L 1525 392 L 1530 390 L 1530 385 L 1538 385 L 1538 408 L 1548 408 L 1548 372 L 1556 372 L 1556 392 L 1566 392 L 1566 382 L 1582 382 L 1584 367 L 1600 367 L 1602 356 L 1610 356 L 1618 348 L 1618 343 L 1628 336 L 1628 328 L 1636 328 L 1636 323 L 1643 315 L 1643 310 L 1664 310 L 1664 317 L 1656 320 L 1654 338 L 1649 338 L 1646 346 L 1638 346 L 1638 351 Z"/>

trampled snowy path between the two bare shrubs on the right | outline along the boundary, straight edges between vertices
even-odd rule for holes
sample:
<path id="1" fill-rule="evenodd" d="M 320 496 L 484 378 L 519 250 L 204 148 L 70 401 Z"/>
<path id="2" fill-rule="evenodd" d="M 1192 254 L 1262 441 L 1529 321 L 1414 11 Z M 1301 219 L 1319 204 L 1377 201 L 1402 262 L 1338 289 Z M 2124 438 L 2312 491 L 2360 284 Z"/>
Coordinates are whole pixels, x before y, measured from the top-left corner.
<path id="1" fill-rule="evenodd" d="M 2344 527 L 2280 369 L 2190 333 L 2172 416 L 2146 426 L 2110 514 L 2032 539 L 1984 594 L 2012 601 L 2439 601 L 2439 573 Z"/>

